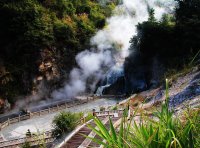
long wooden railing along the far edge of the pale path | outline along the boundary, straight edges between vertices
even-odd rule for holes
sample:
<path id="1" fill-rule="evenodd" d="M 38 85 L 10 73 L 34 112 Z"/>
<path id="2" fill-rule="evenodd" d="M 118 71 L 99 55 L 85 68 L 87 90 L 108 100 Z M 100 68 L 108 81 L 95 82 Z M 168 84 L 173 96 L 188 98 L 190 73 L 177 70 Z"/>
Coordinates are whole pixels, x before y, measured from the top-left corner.
<path id="1" fill-rule="evenodd" d="M 62 102 L 62 103 L 59 102 L 58 104 L 56 104 L 52 107 L 48 107 L 48 108 L 43 109 L 43 110 L 39 110 L 39 111 L 35 111 L 35 112 L 29 112 L 28 114 L 19 115 L 18 117 L 11 118 L 11 119 L 8 118 L 6 121 L 0 123 L 0 130 L 9 126 L 10 124 L 14 124 L 14 123 L 17 123 L 17 122 L 20 122 L 20 121 L 23 121 L 23 120 L 32 119 L 34 117 L 58 112 L 58 111 L 66 109 L 66 108 L 70 108 L 70 107 L 74 107 L 76 105 L 80 105 L 80 104 L 90 102 L 91 100 L 94 100 L 94 99 L 96 99 L 96 98 L 95 97 L 87 97 L 87 99 L 76 100 L 74 102 Z"/>

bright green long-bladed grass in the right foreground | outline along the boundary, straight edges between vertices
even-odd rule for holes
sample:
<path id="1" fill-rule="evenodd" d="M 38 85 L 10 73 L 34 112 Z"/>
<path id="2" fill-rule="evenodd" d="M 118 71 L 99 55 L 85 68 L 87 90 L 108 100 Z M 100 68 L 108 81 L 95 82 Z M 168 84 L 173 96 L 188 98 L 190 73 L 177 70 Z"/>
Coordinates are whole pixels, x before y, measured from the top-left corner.
<path id="1" fill-rule="evenodd" d="M 130 120 L 123 117 L 119 129 L 114 129 L 110 120 L 108 130 L 98 118 L 94 118 L 98 130 L 92 130 L 103 140 L 90 138 L 108 148 L 198 148 L 200 145 L 200 110 L 183 111 L 179 116 L 168 106 L 168 89 L 166 101 L 161 110 L 152 117 L 139 112 L 140 121 L 136 120 L 138 109 Z M 126 113 L 125 113 L 126 114 Z"/>

